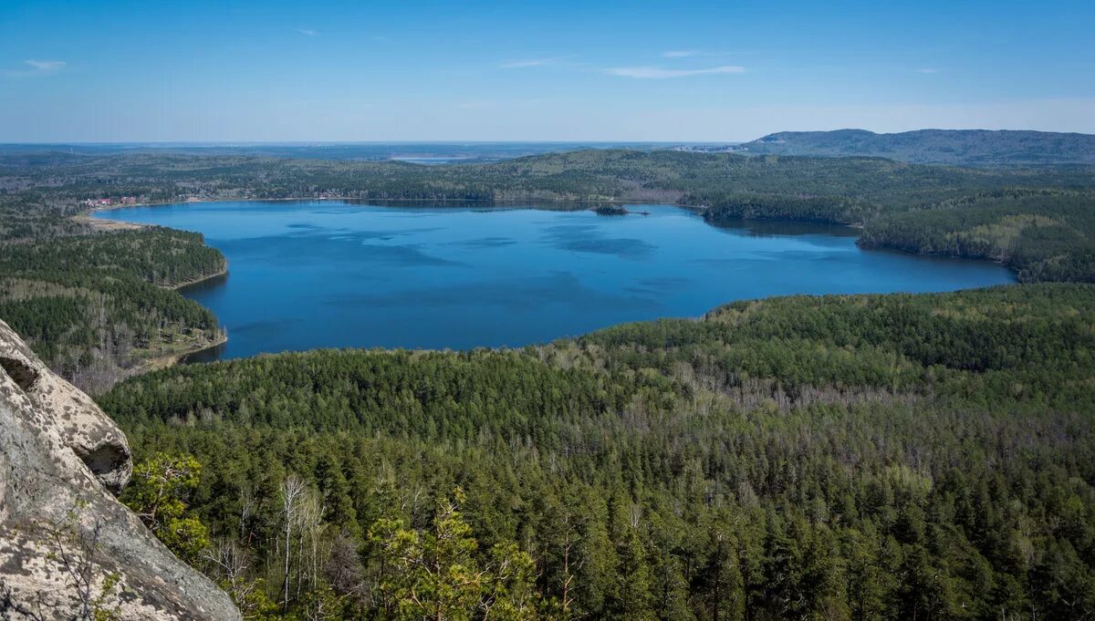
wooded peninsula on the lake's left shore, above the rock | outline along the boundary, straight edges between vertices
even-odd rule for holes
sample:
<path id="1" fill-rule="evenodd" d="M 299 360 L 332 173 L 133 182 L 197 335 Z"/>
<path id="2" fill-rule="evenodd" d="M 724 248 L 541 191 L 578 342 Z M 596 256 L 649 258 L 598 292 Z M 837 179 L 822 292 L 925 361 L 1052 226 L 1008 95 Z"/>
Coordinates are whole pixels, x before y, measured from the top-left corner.
<path id="1" fill-rule="evenodd" d="M 169 288 L 223 272 L 200 235 L 97 230 L 34 204 L 0 208 L 0 318 L 90 392 L 221 338 L 206 308 Z"/>

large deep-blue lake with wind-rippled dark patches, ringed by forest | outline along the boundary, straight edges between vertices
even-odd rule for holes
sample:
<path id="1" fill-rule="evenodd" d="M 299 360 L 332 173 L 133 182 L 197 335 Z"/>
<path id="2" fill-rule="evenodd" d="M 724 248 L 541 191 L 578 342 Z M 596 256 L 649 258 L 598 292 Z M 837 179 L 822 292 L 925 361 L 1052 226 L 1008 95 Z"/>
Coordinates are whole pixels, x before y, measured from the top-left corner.
<path id="1" fill-rule="evenodd" d="M 228 330 L 228 343 L 206 358 L 517 347 L 696 317 L 742 298 L 1014 282 L 991 262 L 863 250 L 842 226 L 714 226 L 676 207 L 629 208 L 649 215 L 272 201 L 99 216 L 197 231 L 224 253 L 227 278 L 184 290 Z"/>

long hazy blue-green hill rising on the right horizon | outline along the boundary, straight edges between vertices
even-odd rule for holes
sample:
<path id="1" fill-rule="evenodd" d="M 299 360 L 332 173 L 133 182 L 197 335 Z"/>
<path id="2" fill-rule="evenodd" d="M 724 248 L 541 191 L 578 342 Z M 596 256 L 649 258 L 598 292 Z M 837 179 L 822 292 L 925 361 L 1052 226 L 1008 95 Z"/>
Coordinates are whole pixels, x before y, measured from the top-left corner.
<path id="1" fill-rule="evenodd" d="M 1048 131 L 781 131 L 746 142 L 738 150 L 777 155 L 878 156 L 900 162 L 964 166 L 1095 164 L 1095 136 Z"/>

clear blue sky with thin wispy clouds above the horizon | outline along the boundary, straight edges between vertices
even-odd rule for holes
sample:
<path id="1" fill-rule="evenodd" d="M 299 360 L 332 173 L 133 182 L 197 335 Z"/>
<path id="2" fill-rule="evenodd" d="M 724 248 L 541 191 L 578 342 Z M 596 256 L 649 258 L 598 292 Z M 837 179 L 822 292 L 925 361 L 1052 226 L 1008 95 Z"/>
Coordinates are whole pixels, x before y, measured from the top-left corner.
<path id="1" fill-rule="evenodd" d="M 0 0 L 0 142 L 1095 133 L 1095 1 Z"/>

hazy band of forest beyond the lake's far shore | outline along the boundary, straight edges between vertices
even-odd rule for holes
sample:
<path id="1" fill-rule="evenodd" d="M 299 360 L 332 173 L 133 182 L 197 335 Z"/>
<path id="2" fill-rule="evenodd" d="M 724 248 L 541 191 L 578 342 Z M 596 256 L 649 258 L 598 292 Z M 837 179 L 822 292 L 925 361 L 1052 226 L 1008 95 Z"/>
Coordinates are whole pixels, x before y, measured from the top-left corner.
<path id="1" fill-rule="evenodd" d="M 1002 187 L 1092 187 L 1091 166 L 973 169 L 878 157 L 749 157 L 727 153 L 587 150 L 493 164 L 422 166 L 142 154 L 0 156 L 0 184 L 51 204 L 135 197 L 506 200 L 661 197 L 711 204 L 726 196 L 845 197 L 878 211 Z M 865 212 L 866 214 L 866 212 Z"/>

